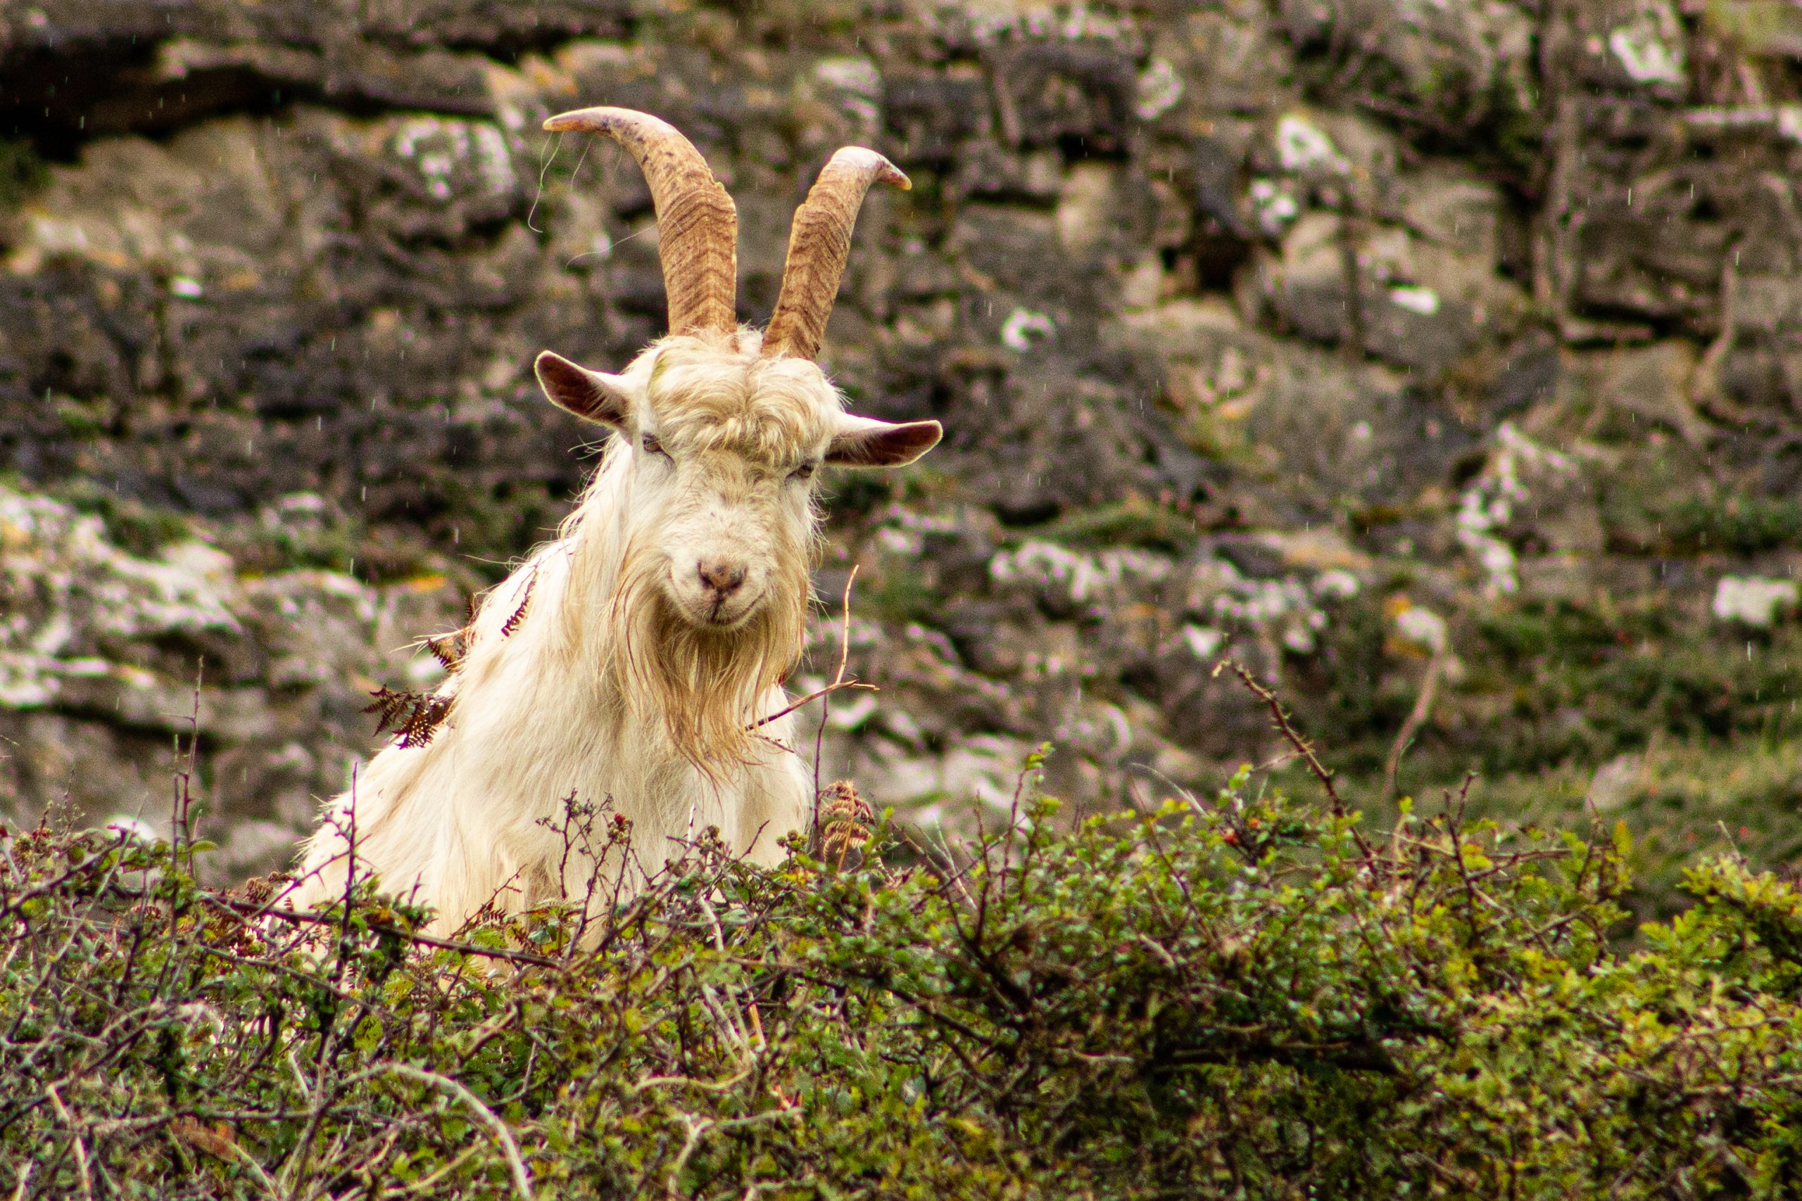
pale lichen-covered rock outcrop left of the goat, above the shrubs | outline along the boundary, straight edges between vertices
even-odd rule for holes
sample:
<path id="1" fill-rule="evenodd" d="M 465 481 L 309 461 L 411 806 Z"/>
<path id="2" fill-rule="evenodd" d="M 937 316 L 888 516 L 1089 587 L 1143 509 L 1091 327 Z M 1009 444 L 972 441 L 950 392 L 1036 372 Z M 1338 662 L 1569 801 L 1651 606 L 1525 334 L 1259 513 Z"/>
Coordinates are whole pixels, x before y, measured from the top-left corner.
<path id="1" fill-rule="evenodd" d="M 409 643 L 454 625 L 456 600 L 441 576 L 387 589 L 324 571 L 240 580 L 202 542 L 144 558 L 101 517 L 0 488 L 0 612 L 13 819 L 49 805 L 164 819 L 186 771 L 211 812 L 292 832 L 362 753 L 364 690 L 422 682 Z M 250 853 L 234 846 L 231 870 Z"/>

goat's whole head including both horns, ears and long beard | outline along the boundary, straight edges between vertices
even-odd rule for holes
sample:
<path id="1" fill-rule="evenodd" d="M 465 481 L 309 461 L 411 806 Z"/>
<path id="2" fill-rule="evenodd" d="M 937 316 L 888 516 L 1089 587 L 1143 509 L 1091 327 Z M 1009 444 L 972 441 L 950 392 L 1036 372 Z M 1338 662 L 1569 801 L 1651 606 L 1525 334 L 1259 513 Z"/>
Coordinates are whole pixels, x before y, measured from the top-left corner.
<path id="1" fill-rule="evenodd" d="M 694 763 L 742 762 L 750 711 L 805 641 L 816 468 L 899 466 L 939 441 L 937 421 L 847 416 L 813 362 L 865 193 L 908 180 L 874 149 L 833 155 L 795 211 L 782 290 L 757 333 L 735 321 L 737 209 L 688 139 L 607 106 L 544 128 L 620 142 L 651 184 L 661 230 L 670 337 L 622 375 L 550 353 L 537 364 L 555 403 L 622 438 L 584 501 L 605 497 L 584 520 L 622 540 L 620 695 L 660 711 Z"/>

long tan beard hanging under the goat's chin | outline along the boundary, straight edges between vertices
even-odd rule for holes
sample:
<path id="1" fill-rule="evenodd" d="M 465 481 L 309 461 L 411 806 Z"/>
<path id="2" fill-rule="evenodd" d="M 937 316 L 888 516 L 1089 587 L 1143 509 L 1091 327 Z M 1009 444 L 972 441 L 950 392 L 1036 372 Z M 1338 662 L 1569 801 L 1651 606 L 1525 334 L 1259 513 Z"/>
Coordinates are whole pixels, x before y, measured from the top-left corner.
<path id="1" fill-rule="evenodd" d="M 715 783 L 760 762 L 759 702 L 784 681 L 807 637 L 805 567 L 773 573 L 744 623 L 708 630 L 678 610 L 660 556 L 627 562 L 613 603 L 622 637 L 609 663 L 627 713 L 661 722 L 676 751 Z"/>

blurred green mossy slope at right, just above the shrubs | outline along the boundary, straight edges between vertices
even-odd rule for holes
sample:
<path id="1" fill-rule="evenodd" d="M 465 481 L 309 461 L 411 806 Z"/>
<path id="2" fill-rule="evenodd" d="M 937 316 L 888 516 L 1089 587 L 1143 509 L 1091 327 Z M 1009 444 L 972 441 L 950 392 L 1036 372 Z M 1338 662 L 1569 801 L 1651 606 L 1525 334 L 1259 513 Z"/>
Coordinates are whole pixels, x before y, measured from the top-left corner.
<path id="1" fill-rule="evenodd" d="M 1384 675 L 1373 636 L 1330 630 L 1333 661 L 1292 682 L 1308 727 L 1330 731 L 1344 787 L 1368 803 L 1420 682 L 1418 670 Z M 1802 745 L 1802 628 L 1750 639 L 1696 628 L 1694 614 L 1652 596 L 1512 601 L 1456 645 L 1463 675 L 1409 747 L 1404 790 L 1438 796 L 1478 771 L 1488 812 L 1557 825 L 1584 819 L 1600 765 L 1645 756 L 1649 774 L 1613 816 L 1640 839 L 1647 911 L 1681 904 L 1678 861 L 1697 850 L 1732 843 L 1762 866 L 1802 855 L 1802 767 L 1788 751 Z"/>

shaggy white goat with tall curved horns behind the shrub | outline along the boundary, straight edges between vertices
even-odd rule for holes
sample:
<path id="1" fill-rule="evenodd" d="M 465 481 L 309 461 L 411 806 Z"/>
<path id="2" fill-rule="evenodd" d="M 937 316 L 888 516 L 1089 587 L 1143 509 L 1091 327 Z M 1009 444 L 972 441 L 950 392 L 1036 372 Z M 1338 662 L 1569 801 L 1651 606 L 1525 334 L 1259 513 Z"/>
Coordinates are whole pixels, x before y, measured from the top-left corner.
<path id="1" fill-rule="evenodd" d="M 894 164 L 833 157 L 795 214 L 759 335 L 733 317 L 732 198 L 681 133 L 622 108 L 544 128 L 605 133 L 645 171 L 670 333 L 622 375 L 539 355 L 546 396 L 618 438 L 560 537 L 487 594 L 420 727 L 328 805 L 294 906 L 342 895 L 355 862 L 454 929 L 490 902 L 517 911 L 634 871 L 580 839 L 571 852 L 569 798 L 631 821 L 647 870 L 705 826 L 777 861 L 813 808 L 793 718 L 764 718 L 789 704 L 805 637 L 816 470 L 912 463 L 941 436 L 937 421 L 845 414 L 813 362 L 865 191 L 906 187 Z"/>

